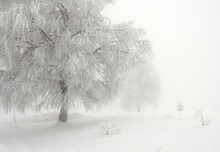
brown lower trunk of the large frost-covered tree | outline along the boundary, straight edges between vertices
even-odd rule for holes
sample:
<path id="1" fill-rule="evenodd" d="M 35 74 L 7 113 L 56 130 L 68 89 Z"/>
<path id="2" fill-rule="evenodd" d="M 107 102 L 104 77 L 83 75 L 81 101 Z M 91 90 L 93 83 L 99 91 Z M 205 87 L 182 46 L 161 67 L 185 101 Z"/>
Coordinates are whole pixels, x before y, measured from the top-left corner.
<path id="1" fill-rule="evenodd" d="M 62 94 L 62 106 L 60 108 L 60 114 L 58 118 L 58 122 L 66 122 L 67 121 L 67 115 L 68 115 L 68 99 L 67 99 L 67 92 L 68 92 L 68 86 L 66 85 L 66 82 L 64 80 L 60 80 L 60 89 Z"/>

